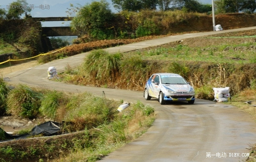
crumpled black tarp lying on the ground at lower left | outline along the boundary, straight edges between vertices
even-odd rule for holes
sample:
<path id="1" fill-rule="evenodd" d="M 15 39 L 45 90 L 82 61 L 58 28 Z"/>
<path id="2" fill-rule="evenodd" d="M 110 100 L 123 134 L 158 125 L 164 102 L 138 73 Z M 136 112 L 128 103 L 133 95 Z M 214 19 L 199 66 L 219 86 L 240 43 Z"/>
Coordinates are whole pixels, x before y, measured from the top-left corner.
<path id="1" fill-rule="evenodd" d="M 0 128 L 3 131 L 3 129 Z M 61 134 L 61 123 L 58 122 L 44 122 L 43 124 L 37 125 L 28 134 L 22 135 L 11 135 L 4 131 L 5 139 L 22 139 L 29 136 L 35 136 L 38 134 L 43 134 L 44 136 L 53 136 Z M 3 139 L 3 138 L 0 138 Z"/>

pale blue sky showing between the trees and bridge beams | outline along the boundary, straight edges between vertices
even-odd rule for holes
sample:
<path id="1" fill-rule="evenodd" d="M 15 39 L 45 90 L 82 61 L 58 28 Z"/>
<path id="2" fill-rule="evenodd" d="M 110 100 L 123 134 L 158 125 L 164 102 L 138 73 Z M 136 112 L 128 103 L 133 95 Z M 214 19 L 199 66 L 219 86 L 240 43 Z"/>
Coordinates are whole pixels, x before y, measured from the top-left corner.
<path id="1" fill-rule="evenodd" d="M 1 0 L 0 8 L 7 9 L 7 5 L 14 2 L 16 0 Z M 75 6 L 84 6 L 86 4 L 90 4 L 93 1 L 99 0 L 26 0 L 29 4 L 28 7 L 33 7 L 30 14 L 32 17 L 66 17 L 67 16 L 67 8 L 70 8 L 70 3 Z M 114 10 L 113 4 L 111 0 L 106 0 L 110 4 L 110 8 Z M 211 0 L 200 0 L 199 2 L 203 4 L 211 4 Z M 42 7 L 43 6 L 43 7 Z M 56 26 L 55 22 L 44 22 L 43 26 Z M 68 26 L 68 23 L 59 23 L 57 26 Z"/>

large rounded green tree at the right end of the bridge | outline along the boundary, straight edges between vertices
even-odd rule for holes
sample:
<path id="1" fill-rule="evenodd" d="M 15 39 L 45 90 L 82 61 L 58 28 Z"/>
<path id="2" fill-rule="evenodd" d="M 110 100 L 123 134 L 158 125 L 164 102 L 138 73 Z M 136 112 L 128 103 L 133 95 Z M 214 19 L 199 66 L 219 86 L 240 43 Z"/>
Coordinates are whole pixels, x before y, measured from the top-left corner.
<path id="1" fill-rule="evenodd" d="M 97 39 L 107 39 L 113 34 L 114 14 L 105 0 L 92 2 L 81 7 L 71 22 L 73 31 L 79 34 L 89 34 Z"/>

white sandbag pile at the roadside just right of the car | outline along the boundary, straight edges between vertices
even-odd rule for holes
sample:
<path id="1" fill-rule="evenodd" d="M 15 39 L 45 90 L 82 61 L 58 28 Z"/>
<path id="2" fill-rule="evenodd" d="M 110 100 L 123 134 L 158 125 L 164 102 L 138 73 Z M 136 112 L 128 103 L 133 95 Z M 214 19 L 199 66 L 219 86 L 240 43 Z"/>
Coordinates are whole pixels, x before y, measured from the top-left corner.
<path id="1" fill-rule="evenodd" d="M 214 101 L 228 102 L 230 101 L 230 88 L 212 88 L 214 91 Z"/>

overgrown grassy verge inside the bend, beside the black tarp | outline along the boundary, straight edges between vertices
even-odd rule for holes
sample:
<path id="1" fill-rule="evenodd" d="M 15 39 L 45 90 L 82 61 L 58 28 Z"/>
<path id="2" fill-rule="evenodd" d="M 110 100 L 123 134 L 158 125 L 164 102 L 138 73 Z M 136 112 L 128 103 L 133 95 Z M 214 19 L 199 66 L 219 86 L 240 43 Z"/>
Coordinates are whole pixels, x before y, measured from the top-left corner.
<path id="1" fill-rule="evenodd" d="M 39 98 L 40 102 L 36 101 L 41 104 L 38 105 L 38 116 L 46 115 L 58 122 L 64 120 L 61 131 L 67 134 L 1 142 L 0 161 L 94 162 L 136 139 L 154 121 L 154 109 L 140 101 L 131 103 L 128 108 L 119 112 L 117 108 L 122 100 L 110 100 L 90 93 L 66 94 L 32 90 L 24 85 L 18 85 L 9 93 L 19 94 L 20 97 L 24 96 L 24 99 L 32 101 L 34 98 L 38 99 L 33 94 L 38 94 L 39 91 L 42 97 Z M 23 105 L 23 102 L 18 97 L 15 105 L 19 104 Z M 17 109 L 19 111 L 12 112 L 22 116 L 23 109 Z M 3 136 L 3 131 L 0 131 L 0 139 Z"/>

